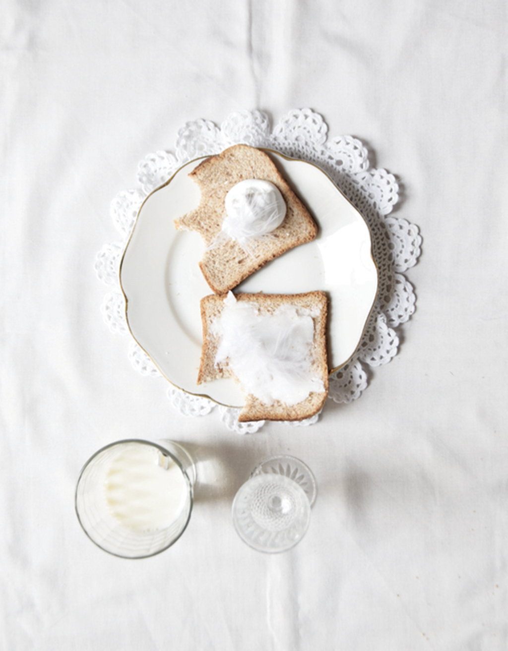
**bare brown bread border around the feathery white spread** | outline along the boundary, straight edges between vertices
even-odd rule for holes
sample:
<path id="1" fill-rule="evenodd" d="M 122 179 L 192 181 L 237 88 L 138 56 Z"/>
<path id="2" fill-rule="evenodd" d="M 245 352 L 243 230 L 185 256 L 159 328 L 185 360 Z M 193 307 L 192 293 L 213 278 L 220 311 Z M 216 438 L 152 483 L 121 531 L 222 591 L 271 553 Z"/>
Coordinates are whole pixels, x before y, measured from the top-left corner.
<path id="1" fill-rule="evenodd" d="M 215 363 L 219 346 L 218 337 L 212 334 L 212 323 L 219 318 L 224 307 L 225 296 L 210 294 L 201 299 L 201 320 L 203 322 L 203 348 L 197 383 L 201 384 L 218 378 L 233 378 L 233 371 L 227 361 Z M 324 391 L 310 393 L 305 400 L 288 405 L 280 401 L 264 404 L 251 394 L 246 395 L 246 403 L 240 411 L 238 421 L 302 421 L 322 409 L 328 396 L 328 361 L 326 355 L 326 320 L 328 298 L 324 292 L 305 292 L 303 294 L 235 294 L 237 301 L 251 301 L 259 307 L 260 314 L 270 314 L 283 304 L 294 305 L 312 312 L 314 322 L 314 341 L 311 370 L 323 381 Z M 239 335 L 241 336 L 241 335 Z"/>

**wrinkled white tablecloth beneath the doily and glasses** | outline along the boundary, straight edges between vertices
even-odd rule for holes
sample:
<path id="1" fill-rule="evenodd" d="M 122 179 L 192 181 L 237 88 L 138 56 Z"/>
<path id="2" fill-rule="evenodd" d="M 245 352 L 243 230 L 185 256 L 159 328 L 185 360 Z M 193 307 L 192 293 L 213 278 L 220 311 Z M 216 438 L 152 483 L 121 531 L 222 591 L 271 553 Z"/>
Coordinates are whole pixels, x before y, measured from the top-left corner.
<path id="1" fill-rule="evenodd" d="M 507 8 L 503 0 L 3 3 L 0 648 L 508 647 Z M 180 415 L 100 314 L 109 203 L 178 128 L 312 107 L 399 178 L 423 253 L 399 354 L 318 424 Z M 74 514 L 124 437 L 199 460 L 190 525 L 124 561 Z M 302 542 L 247 547 L 231 501 L 262 458 L 313 469 Z"/>

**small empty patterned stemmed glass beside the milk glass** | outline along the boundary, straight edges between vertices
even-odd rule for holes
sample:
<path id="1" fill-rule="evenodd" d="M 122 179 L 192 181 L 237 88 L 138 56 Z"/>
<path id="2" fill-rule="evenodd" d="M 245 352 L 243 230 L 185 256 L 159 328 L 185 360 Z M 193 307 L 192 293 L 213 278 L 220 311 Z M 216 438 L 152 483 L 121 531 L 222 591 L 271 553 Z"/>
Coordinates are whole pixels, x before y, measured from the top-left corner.
<path id="1" fill-rule="evenodd" d="M 316 498 L 311 469 L 293 456 L 275 456 L 257 465 L 233 500 L 236 532 L 257 551 L 294 547 L 307 532 Z"/>

